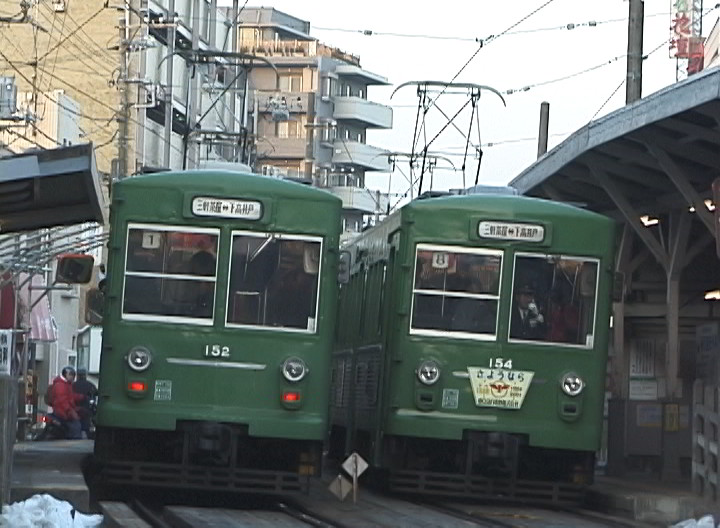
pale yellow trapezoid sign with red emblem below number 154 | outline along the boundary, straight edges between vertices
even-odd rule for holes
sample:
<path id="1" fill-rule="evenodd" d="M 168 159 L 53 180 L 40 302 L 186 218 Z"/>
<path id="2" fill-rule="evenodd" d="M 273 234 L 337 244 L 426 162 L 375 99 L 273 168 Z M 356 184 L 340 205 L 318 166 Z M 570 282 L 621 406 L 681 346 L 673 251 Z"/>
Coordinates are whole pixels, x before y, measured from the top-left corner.
<path id="1" fill-rule="evenodd" d="M 468 367 L 475 405 L 520 409 L 534 372 L 527 370 Z"/>

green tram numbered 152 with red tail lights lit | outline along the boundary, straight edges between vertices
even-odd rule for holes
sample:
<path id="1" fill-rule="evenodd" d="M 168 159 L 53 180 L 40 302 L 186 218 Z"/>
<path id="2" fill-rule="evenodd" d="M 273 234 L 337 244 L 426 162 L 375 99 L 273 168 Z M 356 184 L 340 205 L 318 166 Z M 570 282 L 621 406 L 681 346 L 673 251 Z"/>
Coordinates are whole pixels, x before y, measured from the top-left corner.
<path id="1" fill-rule="evenodd" d="M 304 490 L 319 474 L 341 201 L 187 171 L 113 186 L 101 482 Z"/>

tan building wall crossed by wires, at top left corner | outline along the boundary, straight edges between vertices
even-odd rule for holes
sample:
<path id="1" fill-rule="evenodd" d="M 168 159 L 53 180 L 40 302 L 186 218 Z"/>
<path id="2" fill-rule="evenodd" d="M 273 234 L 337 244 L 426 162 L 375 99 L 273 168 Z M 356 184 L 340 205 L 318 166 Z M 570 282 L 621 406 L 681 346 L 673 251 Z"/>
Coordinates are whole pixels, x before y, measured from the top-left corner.
<path id="1" fill-rule="evenodd" d="M 78 127 L 79 141 L 93 142 L 98 170 L 109 174 L 117 151 L 112 139 L 117 132 L 114 79 L 119 62 L 117 51 L 110 48 L 118 41 L 121 13 L 107 7 L 104 0 L 12 1 L 6 6 L 8 12 L 26 8 L 27 18 L 3 25 L 0 31 L 0 50 L 8 59 L 0 60 L 0 76 L 15 78 L 18 104 L 29 108 L 39 127 L 57 117 L 46 107 L 64 105 L 55 99 L 57 90 L 62 90 L 77 104 L 70 116 Z M 33 92 L 41 94 L 37 101 L 32 100 Z M 15 131 L 25 133 L 24 129 Z M 38 133 L 27 137 L 29 143 L 17 139 L 11 150 L 62 145 L 48 143 Z"/>

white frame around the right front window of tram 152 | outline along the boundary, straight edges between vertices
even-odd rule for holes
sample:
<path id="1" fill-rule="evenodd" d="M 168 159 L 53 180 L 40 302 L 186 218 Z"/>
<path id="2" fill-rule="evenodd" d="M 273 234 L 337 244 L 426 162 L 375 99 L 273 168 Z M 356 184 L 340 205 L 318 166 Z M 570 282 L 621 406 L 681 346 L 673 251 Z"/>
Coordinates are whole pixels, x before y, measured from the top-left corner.
<path id="1" fill-rule="evenodd" d="M 306 271 L 307 275 L 314 276 L 315 277 L 315 300 L 314 300 L 314 313 L 311 310 L 312 317 L 308 317 L 307 326 L 305 328 L 298 327 L 298 326 L 279 326 L 279 325 L 273 325 L 268 324 L 267 321 L 263 323 L 258 324 L 252 324 L 252 323 L 238 323 L 238 322 L 232 322 L 230 321 L 230 317 L 234 313 L 234 309 L 231 310 L 231 303 L 235 302 L 233 301 L 233 266 L 235 264 L 235 243 L 236 239 L 238 237 L 252 237 L 252 238 L 258 238 L 258 239 L 265 239 L 269 240 L 270 242 L 272 240 L 278 240 L 278 241 L 298 241 L 298 242 L 310 242 L 313 244 L 319 244 L 318 251 L 319 251 L 319 259 L 317 262 L 317 272 L 308 273 Z M 293 332 L 293 333 L 303 333 L 303 334 L 317 334 L 318 332 L 318 316 L 320 313 L 320 293 L 322 288 L 322 280 L 323 280 L 323 251 L 325 248 L 325 241 L 323 237 L 314 236 L 314 235 L 304 235 L 304 234 L 298 234 L 298 233 L 285 233 L 285 232 L 260 232 L 260 231 L 248 231 L 248 230 L 234 230 L 230 234 L 230 258 L 228 259 L 228 287 L 227 287 L 227 297 L 225 301 L 225 326 L 227 328 L 245 328 L 245 329 L 255 329 L 255 330 L 262 330 L 262 331 L 278 331 L 278 332 Z M 262 245 L 262 243 L 261 243 Z M 261 247 L 258 246 L 258 248 Z M 257 250 L 257 248 L 256 248 Z M 273 274 L 276 270 L 273 271 Z M 269 277 L 269 279 L 272 278 Z M 269 286 L 269 279 L 268 284 L 265 285 L 264 293 L 261 291 L 255 292 L 252 290 L 252 293 L 256 293 L 258 295 L 258 303 L 265 302 L 267 303 L 268 299 L 268 286 Z M 238 290 L 235 293 L 247 293 L 250 294 L 250 290 Z M 259 309 L 259 306 L 258 306 Z"/>

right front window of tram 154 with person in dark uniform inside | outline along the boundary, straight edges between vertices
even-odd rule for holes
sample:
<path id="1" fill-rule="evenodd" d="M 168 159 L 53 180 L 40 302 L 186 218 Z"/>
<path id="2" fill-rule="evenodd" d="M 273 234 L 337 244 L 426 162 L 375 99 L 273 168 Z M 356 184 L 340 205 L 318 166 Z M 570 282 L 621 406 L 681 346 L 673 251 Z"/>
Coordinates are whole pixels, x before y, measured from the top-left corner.
<path id="1" fill-rule="evenodd" d="M 510 339 L 592 346 L 597 260 L 518 254 Z"/>

